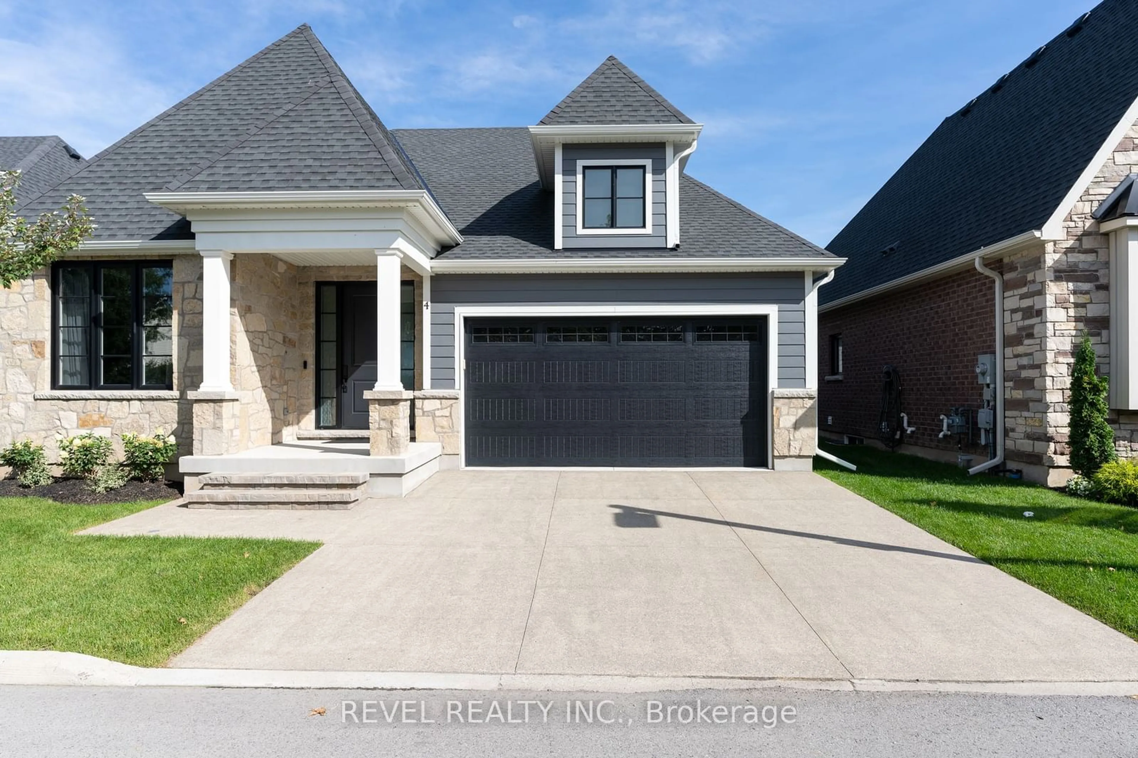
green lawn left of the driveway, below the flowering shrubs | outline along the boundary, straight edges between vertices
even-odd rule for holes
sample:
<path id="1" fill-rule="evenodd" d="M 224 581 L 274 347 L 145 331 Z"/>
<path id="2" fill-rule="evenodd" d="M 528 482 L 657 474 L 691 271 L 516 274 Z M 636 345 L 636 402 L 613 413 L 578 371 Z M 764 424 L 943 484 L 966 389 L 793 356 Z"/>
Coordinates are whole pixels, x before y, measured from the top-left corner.
<path id="1" fill-rule="evenodd" d="M 0 497 L 0 650 L 162 666 L 319 546 L 71 534 L 156 504 Z"/>

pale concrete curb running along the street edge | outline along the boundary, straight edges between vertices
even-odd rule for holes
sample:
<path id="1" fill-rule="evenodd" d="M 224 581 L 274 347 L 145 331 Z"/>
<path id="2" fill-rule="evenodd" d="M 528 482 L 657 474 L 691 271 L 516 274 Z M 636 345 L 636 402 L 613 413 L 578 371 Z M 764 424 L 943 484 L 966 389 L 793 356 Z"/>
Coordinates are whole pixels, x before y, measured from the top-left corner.
<path id="1" fill-rule="evenodd" d="M 1013 695 L 1138 695 L 1138 682 L 900 682 L 892 679 L 747 679 L 576 674 L 431 672 L 272 672 L 143 668 L 83 653 L 0 651 L 0 685 L 162 686 L 289 690 L 511 690 L 665 692 L 786 687 L 836 692 L 940 692 Z"/>

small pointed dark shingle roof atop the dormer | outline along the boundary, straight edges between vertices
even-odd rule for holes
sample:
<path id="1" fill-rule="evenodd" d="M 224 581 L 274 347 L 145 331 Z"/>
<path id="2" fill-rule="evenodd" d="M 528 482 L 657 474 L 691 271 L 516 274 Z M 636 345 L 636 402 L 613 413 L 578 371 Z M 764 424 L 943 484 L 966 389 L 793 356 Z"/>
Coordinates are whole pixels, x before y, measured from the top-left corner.
<path id="1" fill-rule="evenodd" d="M 564 126 L 694 122 L 615 56 L 609 56 L 538 123 Z"/>

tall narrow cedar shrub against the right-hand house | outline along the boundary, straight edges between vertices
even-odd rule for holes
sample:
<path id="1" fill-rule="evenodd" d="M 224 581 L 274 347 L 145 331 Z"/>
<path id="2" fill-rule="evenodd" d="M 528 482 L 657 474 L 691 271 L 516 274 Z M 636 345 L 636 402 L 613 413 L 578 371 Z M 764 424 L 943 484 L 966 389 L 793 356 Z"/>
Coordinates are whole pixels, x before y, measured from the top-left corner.
<path id="1" fill-rule="evenodd" d="M 1106 422 L 1106 377 L 1095 368 L 1095 348 L 1083 336 L 1071 374 L 1071 468 L 1092 477 L 1099 467 L 1115 460 L 1114 430 Z"/>

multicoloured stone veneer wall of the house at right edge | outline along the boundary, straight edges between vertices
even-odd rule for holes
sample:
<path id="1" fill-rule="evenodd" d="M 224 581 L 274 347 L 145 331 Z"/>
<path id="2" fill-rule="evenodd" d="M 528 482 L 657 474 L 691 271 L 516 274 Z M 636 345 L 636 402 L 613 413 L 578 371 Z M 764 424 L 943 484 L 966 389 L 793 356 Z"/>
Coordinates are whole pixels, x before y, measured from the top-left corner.
<path id="1" fill-rule="evenodd" d="M 1064 220 L 1065 239 L 1004 259 L 1007 458 L 1048 467 L 1033 478 L 1070 476 L 1071 368 L 1086 331 L 1099 371 L 1110 371 L 1110 239 L 1091 212 L 1127 174 L 1138 172 L 1132 125 Z M 1112 415 L 1115 447 L 1138 455 L 1138 414 Z"/>

